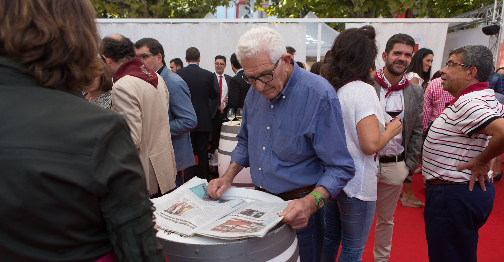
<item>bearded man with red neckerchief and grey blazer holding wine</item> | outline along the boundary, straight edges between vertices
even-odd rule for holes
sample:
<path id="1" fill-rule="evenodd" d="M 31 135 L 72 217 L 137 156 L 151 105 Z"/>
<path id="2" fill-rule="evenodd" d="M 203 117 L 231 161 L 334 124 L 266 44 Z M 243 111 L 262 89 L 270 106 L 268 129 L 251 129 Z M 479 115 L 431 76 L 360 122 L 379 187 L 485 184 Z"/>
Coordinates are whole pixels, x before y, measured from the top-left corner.
<path id="1" fill-rule="evenodd" d="M 413 57 L 414 46 L 415 40 L 411 36 L 393 35 L 382 54 L 385 67 L 374 75 L 374 88 L 384 111 L 391 93 L 402 93 L 404 97 L 403 111 L 397 116 L 403 123 L 403 132 L 390 140 L 387 150 L 384 148 L 379 152 L 374 261 L 387 261 L 390 257 L 397 199 L 403 181 L 418 166 L 422 146 L 423 89 L 410 83 L 405 74 Z M 386 112 L 384 115 L 387 125 L 392 117 Z"/>

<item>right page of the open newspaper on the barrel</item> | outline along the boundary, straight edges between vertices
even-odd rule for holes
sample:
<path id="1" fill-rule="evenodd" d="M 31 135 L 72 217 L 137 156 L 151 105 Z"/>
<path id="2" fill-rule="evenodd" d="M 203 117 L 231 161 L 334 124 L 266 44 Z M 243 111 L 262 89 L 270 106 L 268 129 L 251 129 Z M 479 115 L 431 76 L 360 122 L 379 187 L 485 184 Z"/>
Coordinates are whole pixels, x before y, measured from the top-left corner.
<path id="1" fill-rule="evenodd" d="M 251 201 L 232 214 L 198 230 L 197 233 L 222 239 L 263 237 L 282 220 L 278 215 L 288 203 L 288 201 L 278 203 Z"/>

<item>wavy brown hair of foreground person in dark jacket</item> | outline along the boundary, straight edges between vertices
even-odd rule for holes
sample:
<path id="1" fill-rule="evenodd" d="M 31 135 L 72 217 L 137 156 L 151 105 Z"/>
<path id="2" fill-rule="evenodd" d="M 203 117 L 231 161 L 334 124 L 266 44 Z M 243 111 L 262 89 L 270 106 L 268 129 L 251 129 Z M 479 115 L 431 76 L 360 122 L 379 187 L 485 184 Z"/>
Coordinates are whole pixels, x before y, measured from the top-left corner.
<path id="1" fill-rule="evenodd" d="M 94 15 L 87 0 L 0 1 L 0 56 L 41 86 L 90 86 L 101 67 Z"/>

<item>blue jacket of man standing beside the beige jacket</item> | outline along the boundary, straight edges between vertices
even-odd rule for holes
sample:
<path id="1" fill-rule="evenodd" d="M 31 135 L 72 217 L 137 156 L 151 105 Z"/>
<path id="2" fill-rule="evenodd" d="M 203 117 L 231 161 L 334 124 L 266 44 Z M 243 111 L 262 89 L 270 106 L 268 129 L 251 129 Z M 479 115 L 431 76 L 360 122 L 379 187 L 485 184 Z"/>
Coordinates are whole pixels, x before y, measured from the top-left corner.
<path id="1" fill-rule="evenodd" d="M 159 71 L 159 70 L 158 70 Z M 190 131 L 198 125 L 196 112 L 191 103 L 189 87 L 180 76 L 163 66 L 159 75 L 163 78 L 168 93 L 170 104 L 168 118 L 170 121 L 171 143 L 175 152 L 177 172 L 194 166 L 194 152 L 191 144 Z"/>

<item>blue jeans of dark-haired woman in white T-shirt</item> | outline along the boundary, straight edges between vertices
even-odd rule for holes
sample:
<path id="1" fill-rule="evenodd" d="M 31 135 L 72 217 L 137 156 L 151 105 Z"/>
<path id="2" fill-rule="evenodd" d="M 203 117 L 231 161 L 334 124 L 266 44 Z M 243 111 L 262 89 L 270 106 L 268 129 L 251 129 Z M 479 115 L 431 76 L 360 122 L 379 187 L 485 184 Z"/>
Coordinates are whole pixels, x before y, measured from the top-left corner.
<path id="1" fill-rule="evenodd" d="M 348 197 L 343 190 L 326 202 L 326 232 L 321 261 L 361 261 L 371 230 L 376 201 Z"/>

